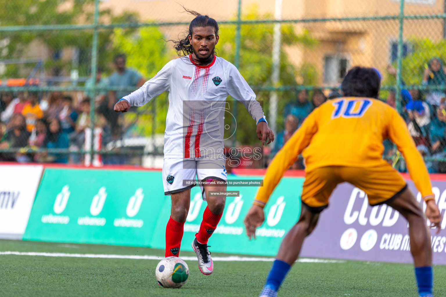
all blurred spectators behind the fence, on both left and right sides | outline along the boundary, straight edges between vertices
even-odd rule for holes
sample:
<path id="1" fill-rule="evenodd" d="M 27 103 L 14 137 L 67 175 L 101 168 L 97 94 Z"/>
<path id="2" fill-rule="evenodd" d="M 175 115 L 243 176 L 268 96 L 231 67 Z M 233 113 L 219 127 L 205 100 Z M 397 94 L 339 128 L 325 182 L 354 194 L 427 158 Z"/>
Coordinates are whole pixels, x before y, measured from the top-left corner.
<path id="1" fill-rule="evenodd" d="M 0 161 L 82 163 L 83 155 L 75 153 L 85 146 L 86 130 L 90 129 L 91 98 L 95 102 L 95 128 L 101 129 L 103 145 L 122 138 L 122 120 L 113 106 L 128 91 L 88 91 L 94 83 L 96 87 L 139 88 L 145 79 L 140 73 L 126 67 L 126 57 L 117 55 L 114 59 L 115 72 L 103 77 L 98 69 L 96 77 L 89 79 L 87 91 L 82 96 L 62 92 L 3 92 L 0 97 L 0 148 L 22 148 L 20 152 L 0 153 Z M 388 74 L 396 76 L 396 69 L 388 66 Z M 402 82 L 404 85 L 404 81 Z M 446 67 L 439 58 L 429 61 L 422 85 L 445 86 Z M 387 92 L 386 101 L 396 106 L 396 94 Z M 381 92 L 381 94 L 386 94 Z M 281 149 L 284 143 L 301 125 L 314 108 L 326 100 L 341 97 L 338 91 L 327 94 L 323 90 L 300 90 L 296 99 L 288 102 L 283 110 L 284 130 L 279 131 L 271 149 L 270 157 Z M 401 115 L 406 120 L 418 150 L 426 159 L 429 172 L 446 172 L 446 94 L 443 90 L 403 89 L 401 91 Z M 88 134 L 91 135 L 91 134 Z M 70 154 L 57 151 L 29 153 L 26 148 L 70 149 Z M 384 157 L 394 163 L 400 171 L 405 171 L 403 160 L 395 159 L 395 146 L 389 139 L 384 141 Z M 270 159 L 270 158 L 269 158 Z M 104 158 L 104 163 L 124 163 L 119 158 Z M 268 161 L 267 161 L 268 162 Z M 297 159 L 292 169 L 304 169 L 302 158 Z"/>

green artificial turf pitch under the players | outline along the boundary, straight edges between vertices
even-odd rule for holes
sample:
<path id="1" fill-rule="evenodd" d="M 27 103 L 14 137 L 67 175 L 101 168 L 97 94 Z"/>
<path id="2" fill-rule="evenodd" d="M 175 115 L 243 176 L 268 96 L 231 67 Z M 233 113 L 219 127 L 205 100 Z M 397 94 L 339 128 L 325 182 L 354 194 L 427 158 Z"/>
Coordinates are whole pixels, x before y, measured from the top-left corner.
<path id="1" fill-rule="evenodd" d="M 160 260 L 164 254 L 149 248 L 0 240 L 0 252 L 4 251 L 155 255 Z M 214 273 L 205 276 L 196 261 L 186 262 L 186 285 L 165 289 L 155 279 L 158 260 L 0 255 L 0 296 L 255 297 L 271 267 L 263 261 L 215 261 Z M 446 266 L 434 266 L 434 279 L 435 296 L 446 296 Z M 418 295 L 412 265 L 345 261 L 294 264 L 279 296 Z"/>

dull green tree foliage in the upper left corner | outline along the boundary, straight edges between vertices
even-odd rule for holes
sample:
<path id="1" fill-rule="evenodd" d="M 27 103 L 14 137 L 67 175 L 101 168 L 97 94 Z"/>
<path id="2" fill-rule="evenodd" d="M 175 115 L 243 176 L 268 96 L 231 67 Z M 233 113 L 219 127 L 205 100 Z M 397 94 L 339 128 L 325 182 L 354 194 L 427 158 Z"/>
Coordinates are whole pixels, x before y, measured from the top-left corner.
<path id="1" fill-rule="evenodd" d="M 0 25 L 48 25 L 48 24 L 92 24 L 94 0 L 0 0 Z M 133 22 L 134 13 L 124 12 L 113 16 L 111 10 L 101 10 L 100 20 Z M 132 31 L 133 29 L 128 29 Z M 98 64 L 106 66 L 110 59 L 112 29 L 99 31 Z M 44 67 L 50 75 L 61 71 L 69 73 L 71 61 L 62 61 L 58 53 L 69 47 L 80 52 L 79 75 L 87 76 L 91 71 L 92 30 L 51 30 L 51 31 L 10 31 L 0 33 L 0 59 L 35 57 L 29 47 L 32 42 L 47 47 L 50 59 L 44 61 Z M 29 74 L 33 65 L 10 64 L 3 77 L 21 77 Z M 21 71 L 23 70 L 23 71 Z"/>

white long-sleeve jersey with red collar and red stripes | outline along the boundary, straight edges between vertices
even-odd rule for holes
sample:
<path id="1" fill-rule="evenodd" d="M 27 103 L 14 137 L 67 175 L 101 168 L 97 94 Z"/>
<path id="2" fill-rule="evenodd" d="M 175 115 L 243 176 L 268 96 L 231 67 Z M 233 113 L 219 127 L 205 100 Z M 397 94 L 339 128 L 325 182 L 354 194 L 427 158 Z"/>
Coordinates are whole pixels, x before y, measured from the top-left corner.
<path id="1" fill-rule="evenodd" d="M 256 94 L 238 69 L 221 57 L 214 56 L 207 66 L 196 65 L 190 56 L 169 61 L 155 77 L 124 99 L 132 106 L 143 106 L 167 90 L 165 158 L 221 155 L 223 132 L 229 129 L 224 125 L 225 111 L 228 114 L 230 110 L 228 95 L 242 102 L 256 122 L 264 117 Z"/>

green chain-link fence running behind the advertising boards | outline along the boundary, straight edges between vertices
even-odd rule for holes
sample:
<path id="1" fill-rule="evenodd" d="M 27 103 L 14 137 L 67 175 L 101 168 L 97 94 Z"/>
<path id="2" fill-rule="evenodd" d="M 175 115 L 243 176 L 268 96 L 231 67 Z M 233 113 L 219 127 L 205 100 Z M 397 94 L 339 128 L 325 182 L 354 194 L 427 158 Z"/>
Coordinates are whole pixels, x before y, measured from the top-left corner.
<path id="1" fill-rule="evenodd" d="M 159 166 L 167 94 L 119 116 L 111 106 L 136 90 L 140 77 L 150 79 L 176 57 L 169 40 L 184 36 L 193 18 L 184 5 L 218 21 L 218 55 L 239 68 L 264 102 L 277 134 L 277 145 L 266 155 L 277 151 L 314 106 L 336 96 L 351 66 L 363 65 L 380 71 L 381 98 L 405 117 L 429 170 L 446 172 L 446 1 L 16 2 L 0 0 L 2 160 L 88 163 L 93 156 L 97 164 Z M 127 85 L 113 78 L 114 57 L 121 53 L 126 66 L 139 73 Z M 33 97 L 46 127 L 33 104 L 20 112 Z M 77 118 L 71 117 L 73 110 Z M 21 121 L 14 112 L 26 117 L 27 139 L 14 132 Z M 244 107 L 235 104 L 232 112 L 239 129 L 228 146 L 258 146 L 255 123 Z M 51 118 L 61 120 L 68 142 L 48 139 L 57 136 L 45 132 L 51 132 Z M 405 170 L 392 144 L 385 144 L 386 157 Z"/>

